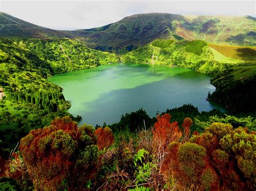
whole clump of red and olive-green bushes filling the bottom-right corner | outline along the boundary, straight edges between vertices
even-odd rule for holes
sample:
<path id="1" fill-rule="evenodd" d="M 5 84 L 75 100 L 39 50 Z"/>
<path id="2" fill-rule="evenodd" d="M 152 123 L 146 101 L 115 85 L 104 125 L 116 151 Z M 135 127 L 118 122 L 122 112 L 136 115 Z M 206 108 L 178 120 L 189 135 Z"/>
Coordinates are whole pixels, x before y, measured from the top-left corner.
<path id="1" fill-rule="evenodd" d="M 162 167 L 166 183 L 170 189 L 177 181 L 177 189 L 255 190 L 254 141 L 246 128 L 212 123 L 187 142 L 172 142 Z"/>

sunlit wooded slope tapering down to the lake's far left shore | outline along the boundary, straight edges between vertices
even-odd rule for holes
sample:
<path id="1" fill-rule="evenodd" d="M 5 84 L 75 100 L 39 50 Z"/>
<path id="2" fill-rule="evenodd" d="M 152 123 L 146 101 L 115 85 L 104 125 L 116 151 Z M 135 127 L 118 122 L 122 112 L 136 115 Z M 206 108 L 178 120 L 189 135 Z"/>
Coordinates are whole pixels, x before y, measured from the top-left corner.
<path id="1" fill-rule="evenodd" d="M 18 46 L 28 48 L 49 63 L 53 74 L 71 72 L 118 62 L 118 56 L 87 48 L 78 41 L 61 39 L 31 39 L 19 41 Z"/>

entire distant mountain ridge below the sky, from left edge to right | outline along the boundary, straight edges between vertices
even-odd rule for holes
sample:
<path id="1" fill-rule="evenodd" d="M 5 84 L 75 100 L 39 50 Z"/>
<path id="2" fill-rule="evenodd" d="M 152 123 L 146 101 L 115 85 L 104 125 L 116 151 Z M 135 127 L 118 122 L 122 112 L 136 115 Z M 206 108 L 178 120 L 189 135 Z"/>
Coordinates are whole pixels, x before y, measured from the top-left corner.
<path id="1" fill-rule="evenodd" d="M 251 16 L 182 16 L 146 13 L 116 23 L 76 31 L 58 31 L 0 13 L 0 36 L 73 38 L 102 51 L 125 53 L 154 39 L 194 40 L 221 45 L 256 45 L 256 22 Z"/>

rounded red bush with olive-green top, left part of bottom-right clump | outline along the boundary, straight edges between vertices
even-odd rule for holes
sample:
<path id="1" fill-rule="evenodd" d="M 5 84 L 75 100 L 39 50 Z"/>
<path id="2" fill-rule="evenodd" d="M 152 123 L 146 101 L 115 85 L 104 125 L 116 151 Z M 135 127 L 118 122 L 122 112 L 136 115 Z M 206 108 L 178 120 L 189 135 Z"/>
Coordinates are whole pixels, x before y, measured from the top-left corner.
<path id="1" fill-rule="evenodd" d="M 166 180 L 177 181 L 178 189 L 204 190 L 215 184 L 217 174 L 208 165 L 205 147 L 188 142 L 173 142 L 169 145 L 169 151 L 163 171 Z M 172 188 L 168 181 L 167 185 Z"/>

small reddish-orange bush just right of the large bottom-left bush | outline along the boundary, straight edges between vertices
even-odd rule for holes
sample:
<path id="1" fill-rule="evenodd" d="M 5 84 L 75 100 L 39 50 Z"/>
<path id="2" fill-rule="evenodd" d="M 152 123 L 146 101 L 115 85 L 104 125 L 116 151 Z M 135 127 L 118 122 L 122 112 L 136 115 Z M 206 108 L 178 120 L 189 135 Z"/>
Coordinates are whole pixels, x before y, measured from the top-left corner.
<path id="1" fill-rule="evenodd" d="M 99 150 L 107 149 L 114 143 L 113 132 L 108 126 L 96 129 L 95 135 L 97 136 Z"/>

